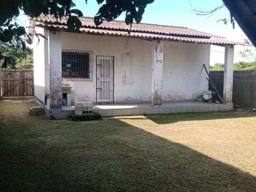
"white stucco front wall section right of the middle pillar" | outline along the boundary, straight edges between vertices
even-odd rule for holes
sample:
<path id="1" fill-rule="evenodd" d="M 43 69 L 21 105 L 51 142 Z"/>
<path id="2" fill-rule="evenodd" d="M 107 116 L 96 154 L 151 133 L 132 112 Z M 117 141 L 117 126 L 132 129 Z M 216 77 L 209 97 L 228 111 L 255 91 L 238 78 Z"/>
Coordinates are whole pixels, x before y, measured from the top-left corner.
<path id="1" fill-rule="evenodd" d="M 163 101 L 195 100 L 208 90 L 210 45 L 164 42 Z"/>

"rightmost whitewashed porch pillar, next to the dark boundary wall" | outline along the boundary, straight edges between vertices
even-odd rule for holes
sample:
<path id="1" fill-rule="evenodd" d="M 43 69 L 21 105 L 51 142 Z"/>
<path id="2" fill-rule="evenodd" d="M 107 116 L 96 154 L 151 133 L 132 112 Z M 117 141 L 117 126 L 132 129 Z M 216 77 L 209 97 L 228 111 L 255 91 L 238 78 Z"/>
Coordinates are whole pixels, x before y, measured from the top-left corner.
<path id="1" fill-rule="evenodd" d="M 234 64 L 234 46 L 225 47 L 224 61 L 224 103 L 232 103 L 233 93 L 233 64 Z"/>

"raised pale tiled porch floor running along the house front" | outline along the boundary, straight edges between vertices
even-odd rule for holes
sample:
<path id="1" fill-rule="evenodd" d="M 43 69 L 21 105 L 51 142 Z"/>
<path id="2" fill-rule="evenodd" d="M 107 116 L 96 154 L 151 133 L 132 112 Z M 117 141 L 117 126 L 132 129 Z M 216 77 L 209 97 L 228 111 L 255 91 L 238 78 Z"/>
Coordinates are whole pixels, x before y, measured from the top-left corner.
<path id="1" fill-rule="evenodd" d="M 102 117 L 132 116 L 144 114 L 169 114 L 187 112 L 214 112 L 233 109 L 233 104 L 209 104 L 203 102 L 164 102 L 162 105 L 152 106 L 151 103 L 138 104 L 94 104 L 93 111 Z M 74 106 L 63 106 L 63 114 L 67 117 L 74 112 Z M 66 118 L 67 118 L 66 117 Z"/>

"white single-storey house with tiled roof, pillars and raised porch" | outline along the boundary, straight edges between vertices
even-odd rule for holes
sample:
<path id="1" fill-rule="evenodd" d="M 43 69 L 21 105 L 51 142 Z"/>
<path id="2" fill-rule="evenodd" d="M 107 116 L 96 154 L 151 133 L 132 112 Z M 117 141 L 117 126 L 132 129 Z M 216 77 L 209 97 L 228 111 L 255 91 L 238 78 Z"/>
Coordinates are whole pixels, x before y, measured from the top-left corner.
<path id="1" fill-rule="evenodd" d="M 41 15 L 30 22 L 34 37 L 34 95 L 56 118 L 75 101 L 90 101 L 102 116 L 229 110 L 232 106 L 234 45 L 196 30 L 121 21 L 95 26 L 81 17 L 79 33 L 64 17 Z M 39 40 L 39 41 L 38 41 Z M 195 102 L 208 90 L 210 45 L 224 46 L 225 104 Z M 47 99 L 49 97 L 49 99 Z M 66 104 L 64 102 L 66 101 Z M 48 101 L 48 104 L 47 104 Z"/>

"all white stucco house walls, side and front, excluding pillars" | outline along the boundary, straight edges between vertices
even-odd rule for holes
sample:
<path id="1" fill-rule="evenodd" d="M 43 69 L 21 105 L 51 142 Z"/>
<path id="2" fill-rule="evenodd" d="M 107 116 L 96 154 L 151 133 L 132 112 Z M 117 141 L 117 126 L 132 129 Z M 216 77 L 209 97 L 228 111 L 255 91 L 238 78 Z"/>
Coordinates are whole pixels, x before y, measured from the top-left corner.
<path id="1" fill-rule="evenodd" d="M 72 102 L 96 102 L 96 56 L 114 56 L 114 102 L 151 101 L 153 42 L 62 32 L 61 46 L 66 50 L 93 52 L 92 81 L 62 80 L 62 84 L 72 86 Z M 42 44 L 34 48 L 35 86 L 46 85 L 47 90 L 49 80 L 42 81 L 44 77 L 40 76 L 44 69 L 49 70 L 45 61 L 48 50 L 44 48 Z M 162 100 L 194 100 L 208 90 L 202 65 L 208 67 L 209 62 L 210 45 L 164 41 Z M 39 88 L 35 89 L 35 95 L 44 96 Z"/>

